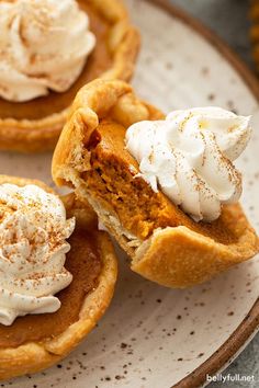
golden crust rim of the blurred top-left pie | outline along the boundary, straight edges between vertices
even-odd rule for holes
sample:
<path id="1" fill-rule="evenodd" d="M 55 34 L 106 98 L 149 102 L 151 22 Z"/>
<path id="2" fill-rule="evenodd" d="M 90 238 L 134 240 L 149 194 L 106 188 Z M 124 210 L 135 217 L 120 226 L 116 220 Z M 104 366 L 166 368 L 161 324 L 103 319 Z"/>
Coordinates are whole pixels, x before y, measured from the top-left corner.
<path id="1" fill-rule="evenodd" d="M 139 34 L 131 24 L 122 0 L 91 0 L 91 5 L 111 24 L 106 44 L 113 54 L 113 65 L 100 78 L 128 81 L 139 49 Z M 68 112 L 69 106 L 41 119 L 0 118 L 0 150 L 42 152 L 54 149 Z"/>

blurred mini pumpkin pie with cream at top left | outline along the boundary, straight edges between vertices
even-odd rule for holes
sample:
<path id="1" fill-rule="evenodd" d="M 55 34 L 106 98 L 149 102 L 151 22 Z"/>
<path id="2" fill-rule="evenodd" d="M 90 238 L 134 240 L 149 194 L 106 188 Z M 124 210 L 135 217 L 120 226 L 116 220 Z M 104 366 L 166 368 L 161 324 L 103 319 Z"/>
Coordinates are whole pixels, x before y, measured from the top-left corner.
<path id="1" fill-rule="evenodd" d="M 139 35 L 121 0 L 0 2 L 0 149 L 55 147 L 77 91 L 130 80 Z"/>

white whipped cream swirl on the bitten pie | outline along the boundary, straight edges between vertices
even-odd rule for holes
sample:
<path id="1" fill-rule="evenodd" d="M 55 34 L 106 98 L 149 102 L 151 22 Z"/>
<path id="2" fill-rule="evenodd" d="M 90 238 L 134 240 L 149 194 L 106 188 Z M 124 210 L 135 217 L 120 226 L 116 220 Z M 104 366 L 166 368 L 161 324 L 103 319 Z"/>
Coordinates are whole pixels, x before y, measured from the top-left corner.
<path id="1" fill-rule="evenodd" d="M 195 221 L 213 221 L 222 204 L 241 194 L 241 174 L 233 164 L 251 135 L 250 117 L 221 107 L 171 112 L 165 121 L 139 122 L 126 133 L 126 148 L 142 176 Z"/>

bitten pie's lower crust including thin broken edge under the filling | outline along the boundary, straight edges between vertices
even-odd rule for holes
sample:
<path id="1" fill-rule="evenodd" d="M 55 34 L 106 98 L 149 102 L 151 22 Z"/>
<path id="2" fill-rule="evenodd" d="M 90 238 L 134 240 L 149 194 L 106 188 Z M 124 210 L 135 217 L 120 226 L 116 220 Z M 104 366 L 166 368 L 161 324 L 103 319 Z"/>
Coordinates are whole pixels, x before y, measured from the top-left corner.
<path id="1" fill-rule="evenodd" d="M 170 288 L 187 288 L 204 283 L 233 265 L 247 261 L 259 251 L 259 240 L 239 204 L 232 205 L 233 217 L 239 218 L 237 242 L 226 246 L 184 226 L 157 229 L 144 242 L 128 239 L 119 219 L 91 194 L 82 194 L 100 220 L 132 259 L 131 269 L 139 275 Z"/>

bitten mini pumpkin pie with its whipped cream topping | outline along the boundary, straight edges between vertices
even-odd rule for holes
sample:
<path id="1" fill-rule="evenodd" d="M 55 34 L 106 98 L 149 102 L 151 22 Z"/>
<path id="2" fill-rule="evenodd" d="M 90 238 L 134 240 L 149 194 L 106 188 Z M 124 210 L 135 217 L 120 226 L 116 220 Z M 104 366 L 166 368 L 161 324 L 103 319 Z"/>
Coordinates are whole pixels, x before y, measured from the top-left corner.
<path id="1" fill-rule="evenodd" d="M 133 271 L 192 286 L 258 252 L 232 162 L 249 136 L 247 117 L 207 107 L 165 118 L 128 84 L 95 80 L 74 102 L 53 176 L 91 204 Z"/>

